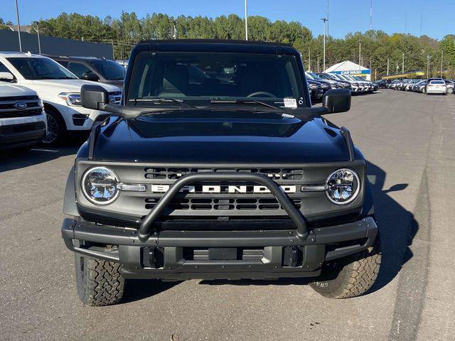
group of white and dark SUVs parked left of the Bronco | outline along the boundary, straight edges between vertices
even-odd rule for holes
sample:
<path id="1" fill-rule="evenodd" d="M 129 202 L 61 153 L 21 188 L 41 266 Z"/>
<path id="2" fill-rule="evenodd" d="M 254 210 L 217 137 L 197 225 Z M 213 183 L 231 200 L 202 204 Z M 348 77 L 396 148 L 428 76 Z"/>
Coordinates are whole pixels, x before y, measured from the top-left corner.
<path id="1" fill-rule="evenodd" d="M 53 146 L 68 131 L 90 131 L 109 115 L 82 107 L 80 88 L 97 82 L 119 103 L 124 73 L 100 58 L 0 52 L 0 148 Z"/>

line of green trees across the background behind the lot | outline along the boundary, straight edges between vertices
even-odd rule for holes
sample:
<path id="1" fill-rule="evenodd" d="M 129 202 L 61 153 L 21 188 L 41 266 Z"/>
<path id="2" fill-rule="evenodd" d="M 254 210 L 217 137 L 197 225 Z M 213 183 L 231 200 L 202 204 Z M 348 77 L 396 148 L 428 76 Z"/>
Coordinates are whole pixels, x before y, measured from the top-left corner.
<path id="1" fill-rule="evenodd" d="M 138 18 L 136 13 L 122 13 L 120 18 L 82 16 L 78 13 L 61 13 L 56 18 L 38 21 L 42 34 L 60 38 L 109 43 L 114 46 L 114 57 L 126 59 L 129 51 L 140 40 L 200 38 L 245 39 L 245 22 L 235 14 L 208 18 L 207 16 L 168 16 L 163 13 L 147 14 Z M 0 29 L 4 21 L 0 18 Z M 32 30 L 33 31 L 33 30 Z M 33 33 L 35 33 L 33 31 Z M 301 52 L 306 68 L 322 70 L 323 36 L 312 33 L 296 21 L 270 21 L 263 16 L 248 17 L 248 38 L 289 43 Z M 440 75 L 441 66 L 446 77 L 455 77 L 455 36 L 442 40 L 429 36 L 412 36 L 370 30 L 348 33 L 344 38 L 326 37 L 326 67 L 343 60 L 359 63 L 372 70 L 373 77 L 404 70 L 424 70 Z M 441 64 L 442 62 L 442 64 Z"/>

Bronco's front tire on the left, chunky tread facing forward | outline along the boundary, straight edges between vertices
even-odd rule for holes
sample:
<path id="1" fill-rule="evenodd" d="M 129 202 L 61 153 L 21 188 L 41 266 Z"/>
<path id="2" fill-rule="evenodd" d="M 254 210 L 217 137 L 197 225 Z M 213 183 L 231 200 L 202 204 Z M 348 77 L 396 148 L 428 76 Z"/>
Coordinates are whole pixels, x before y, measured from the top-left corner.
<path id="1" fill-rule="evenodd" d="M 75 254 L 77 294 L 84 305 L 102 306 L 122 300 L 125 280 L 119 264 Z"/>

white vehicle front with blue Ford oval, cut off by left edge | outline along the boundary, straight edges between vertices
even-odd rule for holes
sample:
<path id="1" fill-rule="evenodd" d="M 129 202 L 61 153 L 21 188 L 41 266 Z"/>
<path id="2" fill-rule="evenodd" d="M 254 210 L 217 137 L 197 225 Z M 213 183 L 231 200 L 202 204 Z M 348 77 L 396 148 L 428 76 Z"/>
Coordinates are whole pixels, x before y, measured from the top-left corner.
<path id="1" fill-rule="evenodd" d="M 0 83 L 0 150 L 29 149 L 43 139 L 45 131 L 43 102 L 36 92 Z"/>

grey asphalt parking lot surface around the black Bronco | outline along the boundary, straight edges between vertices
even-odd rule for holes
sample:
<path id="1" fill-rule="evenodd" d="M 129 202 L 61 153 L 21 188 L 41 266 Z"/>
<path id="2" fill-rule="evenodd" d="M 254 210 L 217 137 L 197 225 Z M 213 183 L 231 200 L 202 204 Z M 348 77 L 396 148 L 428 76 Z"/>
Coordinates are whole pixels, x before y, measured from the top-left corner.
<path id="1" fill-rule="evenodd" d="M 130 281 L 124 303 L 84 307 L 60 238 L 77 151 L 0 156 L 2 340 L 454 340 L 455 95 L 353 97 L 382 234 L 377 283 L 335 301 L 306 281 Z"/>

